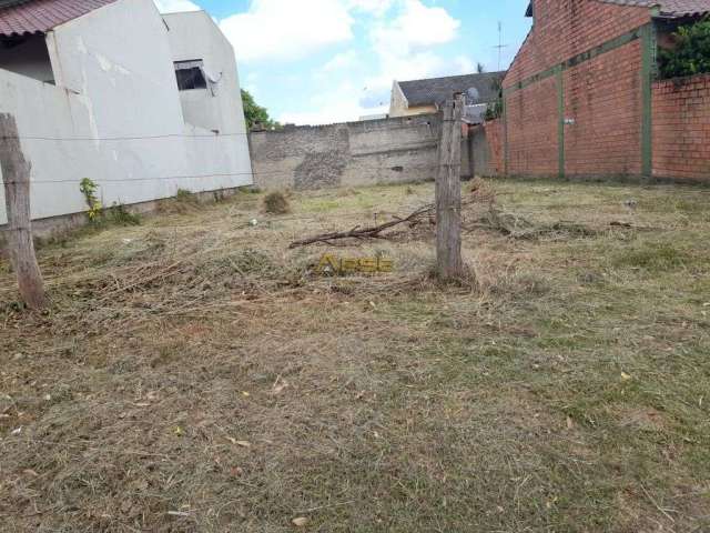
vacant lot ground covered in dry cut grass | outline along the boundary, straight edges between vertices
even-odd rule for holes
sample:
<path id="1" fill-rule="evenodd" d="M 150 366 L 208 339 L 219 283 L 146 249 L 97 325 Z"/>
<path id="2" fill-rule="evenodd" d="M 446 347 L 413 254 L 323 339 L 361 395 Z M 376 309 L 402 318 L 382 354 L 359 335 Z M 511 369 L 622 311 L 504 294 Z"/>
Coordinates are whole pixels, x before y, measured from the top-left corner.
<path id="1" fill-rule="evenodd" d="M 476 286 L 287 249 L 432 184 L 182 198 L 43 248 L 45 315 L 0 263 L 0 530 L 710 531 L 710 191 L 486 188 Z"/>

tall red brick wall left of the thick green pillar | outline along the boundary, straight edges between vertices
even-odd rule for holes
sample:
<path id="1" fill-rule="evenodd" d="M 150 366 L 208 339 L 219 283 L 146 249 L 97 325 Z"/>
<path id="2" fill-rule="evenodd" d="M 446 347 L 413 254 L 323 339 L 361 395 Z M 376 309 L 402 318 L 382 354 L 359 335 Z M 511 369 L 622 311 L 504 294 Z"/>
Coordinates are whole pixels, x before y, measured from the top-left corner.
<path id="1" fill-rule="evenodd" d="M 534 0 L 535 26 L 504 88 L 542 72 L 651 20 L 650 10 L 596 0 Z M 640 173 L 639 41 L 565 71 L 566 173 Z M 555 77 L 506 98 L 508 173 L 557 175 L 558 94 Z"/>

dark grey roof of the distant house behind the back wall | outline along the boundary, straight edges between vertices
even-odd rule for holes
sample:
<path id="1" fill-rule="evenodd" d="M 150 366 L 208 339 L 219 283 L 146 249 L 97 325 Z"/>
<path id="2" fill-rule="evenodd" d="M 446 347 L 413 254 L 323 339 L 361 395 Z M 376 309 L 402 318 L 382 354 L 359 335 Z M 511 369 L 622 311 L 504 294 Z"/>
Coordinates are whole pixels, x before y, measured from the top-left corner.
<path id="1" fill-rule="evenodd" d="M 494 102 L 498 98 L 496 81 L 503 81 L 505 72 L 483 74 L 449 76 L 428 80 L 399 81 L 399 88 L 412 107 L 439 104 L 455 92 L 476 89 L 479 102 Z"/>

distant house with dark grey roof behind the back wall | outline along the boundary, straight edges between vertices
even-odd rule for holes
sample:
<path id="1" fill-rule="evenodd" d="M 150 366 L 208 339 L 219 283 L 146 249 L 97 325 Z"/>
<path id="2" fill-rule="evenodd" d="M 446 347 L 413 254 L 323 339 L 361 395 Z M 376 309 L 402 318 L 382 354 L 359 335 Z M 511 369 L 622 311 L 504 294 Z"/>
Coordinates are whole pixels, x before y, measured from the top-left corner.
<path id="1" fill-rule="evenodd" d="M 438 111 L 455 92 L 466 94 L 471 120 L 480 120 L 487 107 L 500 94 L 500 82 L 505 72 L 449 76 L 427 80 L 395 81 L 389 105 L 390 117 L 409 117 Z"/>

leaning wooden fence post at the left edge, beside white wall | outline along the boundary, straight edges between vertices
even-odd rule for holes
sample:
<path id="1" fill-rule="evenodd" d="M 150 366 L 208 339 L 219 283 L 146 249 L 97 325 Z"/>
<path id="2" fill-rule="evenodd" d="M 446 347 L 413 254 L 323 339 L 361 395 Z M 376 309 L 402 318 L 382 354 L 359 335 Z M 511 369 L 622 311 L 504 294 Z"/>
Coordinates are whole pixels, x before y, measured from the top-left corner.
<path id="1" fill-rule="evenodd" d="M 32 242 L 31 164 L 22 153 L 14 117 L 8 113 L 0 113 L 0 169 L 8 214 L 8 250 L 20 295 L 28 308 L 42 309 L 47 305 L 47 296 Z"/>

